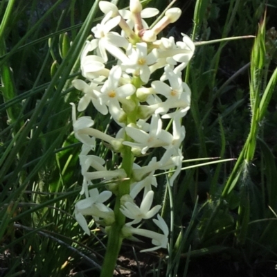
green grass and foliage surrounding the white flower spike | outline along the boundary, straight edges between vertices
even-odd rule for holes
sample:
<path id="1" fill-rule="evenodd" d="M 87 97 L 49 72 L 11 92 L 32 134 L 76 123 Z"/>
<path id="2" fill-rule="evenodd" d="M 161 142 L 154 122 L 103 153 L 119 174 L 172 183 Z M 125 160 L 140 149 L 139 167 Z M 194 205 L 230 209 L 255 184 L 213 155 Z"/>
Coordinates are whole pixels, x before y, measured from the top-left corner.
<path id="1" fill-rule="evenodd" d="M 80 97 L 71 80 L 98 1 L 40 2 L 0 2 L 0 267 L 6 276 L 96 276 L 105 238 L 98 229 L 97 239 L 84 237 L 72 216 L 82 180 L 69 102 Z M 159 176 L 157 202 L 163 199 L 168 223 L 171 215 L 170 253 L 148 276 L 186 276 L 190 260 L 216 253 L 248 267 L 277 256 L 276 4 L 269 1 L 264 15 L 258 0 L 188 2 L 190 26 L 175 32 L 197 42 L 256 38 L 199 45 L 186 69 L 193 93 L 188 166 L 174 188 Z M 148 3 L 162 10 L 168 1 Z M 96 128 L 112 129 L 109 118 L 89 116 Z M 105 145 L 98 151 L 106 157 Z M 236 160 L 197 166 L 213 157 Z M 109 159 L 114 166 L 118 157 Z"/>

